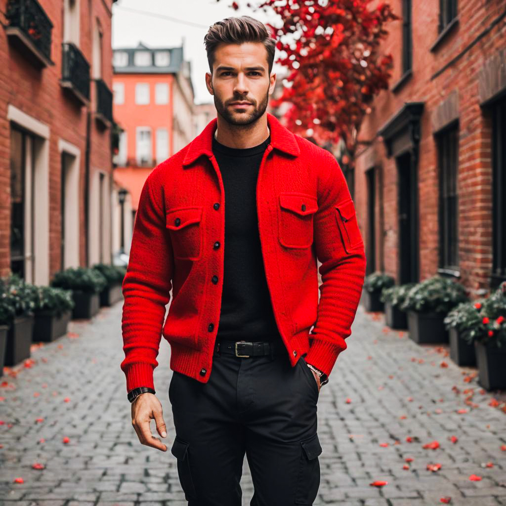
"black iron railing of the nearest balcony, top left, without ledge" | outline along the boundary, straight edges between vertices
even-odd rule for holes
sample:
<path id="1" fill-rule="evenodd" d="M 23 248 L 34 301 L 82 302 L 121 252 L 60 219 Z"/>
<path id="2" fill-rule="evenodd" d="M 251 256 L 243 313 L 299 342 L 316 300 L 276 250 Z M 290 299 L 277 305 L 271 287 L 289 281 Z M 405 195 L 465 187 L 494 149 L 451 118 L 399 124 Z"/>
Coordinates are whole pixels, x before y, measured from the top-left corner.
<path id="1" fill-rule="evenodd" d="M 16 30 L 21 31 L 27 42 L 43 56 L 41 60 L 46 64 L 52 64 L 53 23 L 37 0 L 9 0 L 6 17 L 9 20 L 8 34 L 16 35 Z"/>

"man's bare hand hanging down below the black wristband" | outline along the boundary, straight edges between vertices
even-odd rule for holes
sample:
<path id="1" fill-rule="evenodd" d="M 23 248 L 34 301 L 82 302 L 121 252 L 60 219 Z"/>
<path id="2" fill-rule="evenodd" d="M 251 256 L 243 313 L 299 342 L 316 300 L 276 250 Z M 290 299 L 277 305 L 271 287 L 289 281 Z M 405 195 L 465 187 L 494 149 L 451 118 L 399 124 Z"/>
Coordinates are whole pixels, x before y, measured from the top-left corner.
<path id="1" fill-rule="evenodd" d="M 167 428 L 162 416 L 160 401 L 155 395 L 145 392 L 138 395 L 132 402 L 132 425 L 139 437 L 141 444 L 152 446 L 161 451 L 167 451 L 167 447 L 151 434 L 149 423 L 151 418 L 155 419 L 156 430 L 158 434 L 167 437 Z"/>

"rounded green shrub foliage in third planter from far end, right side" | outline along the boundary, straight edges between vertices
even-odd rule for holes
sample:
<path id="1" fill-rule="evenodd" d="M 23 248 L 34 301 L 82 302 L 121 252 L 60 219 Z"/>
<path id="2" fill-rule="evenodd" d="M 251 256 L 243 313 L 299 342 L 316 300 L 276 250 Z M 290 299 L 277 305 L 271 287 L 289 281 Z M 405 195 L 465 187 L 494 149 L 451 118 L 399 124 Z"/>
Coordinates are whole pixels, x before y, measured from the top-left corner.
<path id="1" fill-rule="evenodd" d="M 400 309 L 447 314 L 457 304 L 467 301 L 468 292 L 460 283 L 442 276 L 433 276 L 408 290 Z"/>

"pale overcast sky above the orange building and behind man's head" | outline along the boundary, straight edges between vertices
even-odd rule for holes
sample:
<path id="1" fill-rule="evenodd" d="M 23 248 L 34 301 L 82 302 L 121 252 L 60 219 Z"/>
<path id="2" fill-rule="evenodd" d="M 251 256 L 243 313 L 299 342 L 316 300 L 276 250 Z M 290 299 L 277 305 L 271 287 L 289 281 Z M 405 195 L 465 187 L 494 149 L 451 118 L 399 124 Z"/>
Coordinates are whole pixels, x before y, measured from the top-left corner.
<path id="1" fill-rule="evenodd" d="M 231 0 L 219 3 L 216 0 L 119 0 L 112 7 L 112 47 L 135 47 L 139 42 L 152 48 L 174 47 L 181 46 L 184 38 L 184 58 L 192 65 L 195 103 L 212 102 L 204 77 L 209 71 L 204 47 L 204 35 L 209 26 L 221 19 L 244 14 L 264 23 L 272 22 L 267 13 L 248 9 L 245 0 L 244 7 L 238 11 L 229 7 L 231 4 Z M 275 58 L 278 58 L 277 51 Z M 273 70 L 278 71 L 279 66 L 274 65 Z"/>

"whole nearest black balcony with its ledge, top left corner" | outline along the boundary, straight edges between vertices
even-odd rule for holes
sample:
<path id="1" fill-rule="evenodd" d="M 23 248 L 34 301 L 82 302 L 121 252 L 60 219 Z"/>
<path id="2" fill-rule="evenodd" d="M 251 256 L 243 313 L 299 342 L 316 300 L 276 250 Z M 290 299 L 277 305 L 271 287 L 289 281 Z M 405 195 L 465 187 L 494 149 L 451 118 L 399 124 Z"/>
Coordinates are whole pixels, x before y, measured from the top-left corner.
<path id="1" fill-rule="evenodd" d="M 54 65 L 51 60 L 53 23 L 37 0 L 9 0 L 6 33 L 16 46 L 39 68 Z"/>

